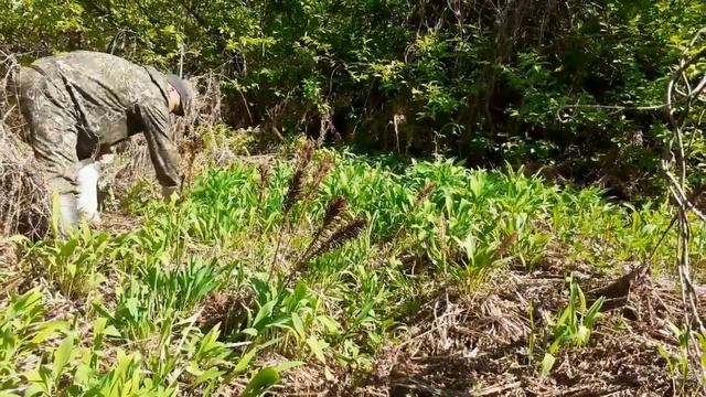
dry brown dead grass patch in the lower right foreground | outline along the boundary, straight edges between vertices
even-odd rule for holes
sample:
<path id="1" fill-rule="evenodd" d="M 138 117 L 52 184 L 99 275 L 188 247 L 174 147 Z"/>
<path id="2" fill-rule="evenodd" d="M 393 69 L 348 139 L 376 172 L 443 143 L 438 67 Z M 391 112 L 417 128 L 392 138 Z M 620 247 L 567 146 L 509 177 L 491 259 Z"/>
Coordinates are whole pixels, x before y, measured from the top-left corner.
<path id="1" fill-rule="evenodd" d="M 548 319 L 567 302 L 565 280 L 557 273 L 554 268 L 535 273 L 511 269 L 495 273 L 472 297 L 442 290 L 405 321 L 408 333 L 387 344 L 371 373 L 340 369 L 335 380 L 325 382 L 322 369 L 309 366 L 290 372 L 278 390 L 311 396 L 673 395 L 675 384 L 656 346 L 678 352 L 676 339 L 661 330 L 665 321 L 680 323 L 684 308 L 674 283 L 651 275 L 641 275 L 613 297 L 619 303 L 605 307 L 587 346 L 564 346 L 549 376 L 539 375 L 543 351 L 552 342 Z M 576 273 L 589 300 L 590 291 L 621 283 L 588 267 Z M 703 302 L 706 290 L 698 293 Z M 687 393 L 696 382 L 689 378 Z"/>

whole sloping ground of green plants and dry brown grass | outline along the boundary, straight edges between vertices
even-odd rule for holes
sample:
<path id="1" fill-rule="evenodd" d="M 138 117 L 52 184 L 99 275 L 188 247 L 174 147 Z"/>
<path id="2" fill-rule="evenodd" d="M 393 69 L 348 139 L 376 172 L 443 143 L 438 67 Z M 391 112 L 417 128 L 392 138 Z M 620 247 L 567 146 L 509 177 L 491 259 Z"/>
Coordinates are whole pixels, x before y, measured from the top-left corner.
<path id="1" fill-rule="evenodd" d="M 296 162 L 277 155 L 266 163 L 206 165 L 180 203 L 126 191 L 113 234 L 24 243 L 21 260 L 0 276 L 1 388 L 116 396 L 256 395 L 271 383 L 343 395 L 353 387 L 567 390 L 575 387 L 567 374 L 600 377 L 581 364 L 611 356 L 607 346 L 643 324 L 611 312 L 591 325 L 593 300 L 582 302 L 579 283 L 607 283 L 645 258 L 653 270 L 672 267 L 673 235 L 652 254 L 670 222 L 662 205 L 609 204 L 596 190 L 561 190 L 512 170 L 451 161 L 403 168 L 332 151 L 315 153 L 292 197 Z M 285 216 L 287 196 L 298 200 Z M 333 244 L 302 260 L 336 196 L 346 211 L 319 239 Z M 351 226 L 356 218 L 365 227 Z M 697 269 L 704 244 L 706 230 L 694 229 Z M 570 270 L 580 282 L 565 281 Z M 537 302 L 544 308 L 531 310 Z M 678 363 L 676 341 L 666 335 L 659 344 Z M 656 344 L 634 348 L 625 354 L 651 366 L 640 373 L 653 378 L 646 389 L 678 378 Z M 556 362 L 542 378 L 549 350 Z M 429 361 L 449 354 L 462 357 L 445 362 L 456 373 Z"/>

